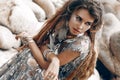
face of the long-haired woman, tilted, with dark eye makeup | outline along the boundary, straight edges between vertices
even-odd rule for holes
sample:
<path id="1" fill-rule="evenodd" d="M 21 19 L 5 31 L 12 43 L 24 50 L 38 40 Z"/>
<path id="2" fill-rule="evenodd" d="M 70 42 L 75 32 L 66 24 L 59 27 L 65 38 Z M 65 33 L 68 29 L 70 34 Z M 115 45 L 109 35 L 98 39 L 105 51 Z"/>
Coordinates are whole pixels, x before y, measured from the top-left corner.
<path id="1" fill-rule="evenodd" d="M 92 26 L 94 18 L 89 14 L 87 9 L 79 9 L 73 12 L 68 22 L 70 33 L 79 35 L 84 33 Z"/>

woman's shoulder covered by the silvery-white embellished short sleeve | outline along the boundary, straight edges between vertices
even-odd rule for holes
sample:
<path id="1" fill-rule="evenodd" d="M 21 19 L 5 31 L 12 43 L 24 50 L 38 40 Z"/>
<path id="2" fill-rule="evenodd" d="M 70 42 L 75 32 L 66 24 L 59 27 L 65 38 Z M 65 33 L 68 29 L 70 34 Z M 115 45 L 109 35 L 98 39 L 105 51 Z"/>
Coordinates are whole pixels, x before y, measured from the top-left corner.
<path id="1" fill-rule="evenodd" d="M 90 38 L 89 36 L 79 36 L 71 41 L 68 41 L 69 48 L 73 51 L 80 53 L 88 53 L 90 49 Z"/>

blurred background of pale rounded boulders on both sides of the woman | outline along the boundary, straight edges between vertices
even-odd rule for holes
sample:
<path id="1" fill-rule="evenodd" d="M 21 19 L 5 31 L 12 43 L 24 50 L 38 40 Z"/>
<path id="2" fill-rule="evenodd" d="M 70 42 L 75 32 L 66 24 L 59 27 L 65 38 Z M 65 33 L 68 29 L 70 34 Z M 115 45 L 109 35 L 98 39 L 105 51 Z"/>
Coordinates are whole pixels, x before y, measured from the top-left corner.
<path id="1" fill-rule="evenodd" d="M 35 36 L 44 22 L 68 0 L 0 0 L 0 75 L 22 45 L 15 36 L 26 31 Z M 96 34 L 99 54 L 96 69 L 101 80 L 120 80 L 120 0 L 97 0 L 103 4 L 103 25 Z M 7 80 L 7 79 L 6 79 Z M 8 79 L 10 80 L 10 79 Z"/>

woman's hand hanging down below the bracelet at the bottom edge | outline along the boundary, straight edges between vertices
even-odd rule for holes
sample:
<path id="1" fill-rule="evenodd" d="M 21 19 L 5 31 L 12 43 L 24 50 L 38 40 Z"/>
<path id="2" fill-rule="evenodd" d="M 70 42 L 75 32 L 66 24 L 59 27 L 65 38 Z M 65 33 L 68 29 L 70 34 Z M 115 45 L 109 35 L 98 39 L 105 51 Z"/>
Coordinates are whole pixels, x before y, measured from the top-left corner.
<path id="1" fill-rule="evenodd" d="M 54 57 L 48 66 L 48 69 L 44 72 L 44 80 L 58 80 L 59 67 L 59 59 Z"/>

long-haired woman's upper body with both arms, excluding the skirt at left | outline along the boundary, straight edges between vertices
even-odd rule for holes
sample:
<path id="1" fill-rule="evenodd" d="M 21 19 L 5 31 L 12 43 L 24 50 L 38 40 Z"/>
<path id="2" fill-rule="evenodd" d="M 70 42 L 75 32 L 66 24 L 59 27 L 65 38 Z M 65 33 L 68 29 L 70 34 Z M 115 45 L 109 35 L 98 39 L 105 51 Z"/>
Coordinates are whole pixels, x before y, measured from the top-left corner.
<path id="1" fill-rule="evenodd" d="M 102 25 L 101 4 L 95 0 L 69 0 L 44 25 L 34 40 L 27 33 L 18 37 L 28 42 L 44 80 L 87 80 L 93 74 L 97 54 L 96 31 Z"/>

